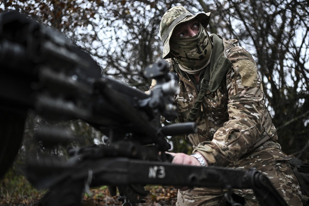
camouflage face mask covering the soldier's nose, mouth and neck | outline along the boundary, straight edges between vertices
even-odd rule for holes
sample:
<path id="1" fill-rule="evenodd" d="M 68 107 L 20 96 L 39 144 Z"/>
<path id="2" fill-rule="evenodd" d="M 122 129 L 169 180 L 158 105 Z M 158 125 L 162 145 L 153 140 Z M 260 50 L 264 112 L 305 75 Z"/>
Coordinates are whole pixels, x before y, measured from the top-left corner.
<path id="1" fill-rule="evenodd" d="M 204 68 L 209 60 L 212 45 L 208 33 L 200 24 L 199 32 L 195 36 L 172 37 L 170 48 L 171 55 L 184 69 L 195 71 Z"/>

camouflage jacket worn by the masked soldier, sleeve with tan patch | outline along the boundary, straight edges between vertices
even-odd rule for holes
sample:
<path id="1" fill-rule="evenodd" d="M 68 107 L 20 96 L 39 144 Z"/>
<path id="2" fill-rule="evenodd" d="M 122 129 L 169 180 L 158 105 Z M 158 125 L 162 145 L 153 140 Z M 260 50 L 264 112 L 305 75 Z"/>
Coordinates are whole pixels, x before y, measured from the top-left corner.
<path id="1" fill-rule="evenodd" d="M 201 109 L 197 111 L 198 132 L 188 135 L 195 148 L 193 152 L 200 152 L 210 165 L 215 166 L 227 166 L 265 141 L 277 140 L 252 55 L 239 47 L 237 40 L 223 39 L 223 46 L 223 55 L 232 65 L 217 91 L 206 93 Z M 167 61 L 171 71 L 175 71 L 178 65 L 172 59 Z M 178 120 L 185 122 L 198 91 L 190 75 L 179 78 Z"/>

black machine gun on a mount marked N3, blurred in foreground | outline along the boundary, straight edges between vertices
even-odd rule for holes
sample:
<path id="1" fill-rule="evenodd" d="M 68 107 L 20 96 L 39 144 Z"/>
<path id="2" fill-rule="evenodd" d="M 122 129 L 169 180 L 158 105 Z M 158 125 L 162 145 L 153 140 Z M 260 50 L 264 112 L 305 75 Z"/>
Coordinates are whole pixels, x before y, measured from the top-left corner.
<path id="1" fill-rule="evenodd" d="M 175 118 L 171 96 L 177 93 L 176 78 L 163 62 L 145 70 L 147 78 L 157 80 L 148 95 L 101 75 L 91 56 L 61 33 L 18 12 L 4 11 L 0 65 L 2 168 L 15 156 L 29 110 L 54 120 L 83 120 L 109 138 L 108 145 L 68 149 L 66 161 L 29 162 L 29 181 L 49 188 L 41 205 L 79 205 L 84 189 L 109 185 L 112 195 L 118 187 L 123 205 L 134 206 L 148 194 L 145 184 L 252 188 L 261 205 L 287 205 L 256 170 L 170 163 L 165 137 L 196 132 L 196 126 L 161 125 L 160 116 Z M 44 128 L 36 135 L 51 141 L 72 139 L 58 129 Z"/>

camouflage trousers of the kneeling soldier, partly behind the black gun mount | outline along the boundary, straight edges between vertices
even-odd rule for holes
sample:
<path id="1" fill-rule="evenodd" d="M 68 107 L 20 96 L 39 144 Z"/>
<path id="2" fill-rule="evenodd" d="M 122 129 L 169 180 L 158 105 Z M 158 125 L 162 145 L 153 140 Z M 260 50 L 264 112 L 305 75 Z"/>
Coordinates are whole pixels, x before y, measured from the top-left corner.
<path id="1" fill-rule="evenodd" d="M 280 145 L 272 141 L 264 143 L 255 149 L 247 157 L 240 159 L 230 168 L 255 168 L 269 177 L 277 191 L 283 196 L 290 206 L 303 205 L 300 196 L 301 191 L 298 180 L 293 174 L 284 154 L 281 152 Z M 245 206 L 260 205 L 251 189 L 235 189 L 236 195 L 242 196 Z M 217 206 L 225 205 L 222 189 L 194 188 L 191 190 L 178 191 L 177 206 Z"/>

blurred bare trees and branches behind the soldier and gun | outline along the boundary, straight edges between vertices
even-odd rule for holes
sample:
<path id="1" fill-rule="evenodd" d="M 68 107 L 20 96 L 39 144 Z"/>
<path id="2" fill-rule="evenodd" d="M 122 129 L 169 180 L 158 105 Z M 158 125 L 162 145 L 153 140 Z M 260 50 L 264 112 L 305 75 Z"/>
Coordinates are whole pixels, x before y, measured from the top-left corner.
<path id="1" fill-rule="evenodd" d="M 0 10 L 14 9 L 63 32 L 91 56 L 102 74 L 140 90 L 147 65 L 162 60 L 162 15 L 183 5 L 193 14 L 211 12 L 209 33 L 237 39 L 254 57 L 279 143 L 286 154 L 307 159 L 309 147 L 309 2 L 306 0 L 2 0 Z M 19 162 L 38 148 L 33 131 L 61 124 L 102 144 L 103 136 L 82 121 L 54 123 L 29 113 Z M 185 137 L 171 137 L 174 152 L 190 153 Z M 53 151 L 57 153 L 58 151 Z"/>

